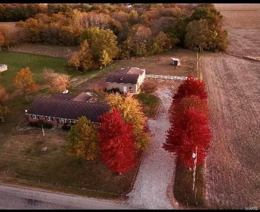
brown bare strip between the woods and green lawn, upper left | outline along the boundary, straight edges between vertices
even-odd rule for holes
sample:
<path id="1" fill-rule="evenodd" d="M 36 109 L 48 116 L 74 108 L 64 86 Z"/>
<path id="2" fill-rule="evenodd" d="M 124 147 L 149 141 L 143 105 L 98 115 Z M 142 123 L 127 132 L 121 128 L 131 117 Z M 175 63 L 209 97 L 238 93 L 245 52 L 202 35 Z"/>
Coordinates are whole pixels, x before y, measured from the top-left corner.
<path id="1" fill-rule="evenodd" d="M 64 46 L 64 45 L 52 45 L 52 44 L 26 44 L 17 46 L 10 49 L 15 52 L 25 52 L 39 55 L 48 55 L 59 58 L 70 58 L 76 54 L 79 50 L 77 46 Z"/>

